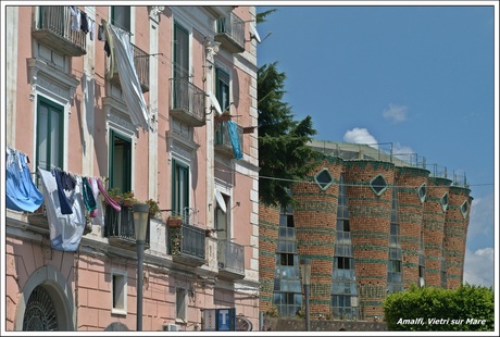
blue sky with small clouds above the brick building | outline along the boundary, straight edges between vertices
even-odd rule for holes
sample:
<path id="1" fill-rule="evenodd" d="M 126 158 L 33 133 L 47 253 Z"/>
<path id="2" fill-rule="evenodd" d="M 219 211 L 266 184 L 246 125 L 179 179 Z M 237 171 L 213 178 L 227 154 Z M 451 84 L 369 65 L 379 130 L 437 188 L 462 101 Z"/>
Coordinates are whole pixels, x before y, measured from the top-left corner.
<path id="1" fill-rule="evenodd" d="M 491 286 L 498 4 L 368 2 L 258 5 L 258 13 L 277 9 L 258 25 L 259 66 L 277 62 L 287 74 L 284 100 L 296 120 L 312 116 L 315 138 L 380 143 L 425 158 L 427 168 L 446 167 L 449 178 L 465 176 L 474 201 L 464 279 Z"/>

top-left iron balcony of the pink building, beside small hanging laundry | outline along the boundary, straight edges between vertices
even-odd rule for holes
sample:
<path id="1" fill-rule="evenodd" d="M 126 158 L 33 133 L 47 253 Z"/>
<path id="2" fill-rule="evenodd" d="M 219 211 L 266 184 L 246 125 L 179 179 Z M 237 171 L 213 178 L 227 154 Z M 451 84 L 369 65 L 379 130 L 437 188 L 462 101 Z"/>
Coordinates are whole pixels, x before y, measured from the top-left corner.
<path id="1" fill-rule="evenodd" d="M 86 51 L 86 34 L 71 28 L 71 12 L 67 5 L 40 5 L 32 35 L 42 45 L 70 57 L 80 57 Z"/>

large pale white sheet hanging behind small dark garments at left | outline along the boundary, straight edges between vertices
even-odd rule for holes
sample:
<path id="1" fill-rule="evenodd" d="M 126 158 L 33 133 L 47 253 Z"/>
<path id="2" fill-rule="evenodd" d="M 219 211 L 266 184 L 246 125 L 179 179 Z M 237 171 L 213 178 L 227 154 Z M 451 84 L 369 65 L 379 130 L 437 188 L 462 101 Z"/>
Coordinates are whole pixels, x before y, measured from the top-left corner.
<path id="1" fill-rule="evenodd" d="M 82 236 L 84 235 L 86 219 L 85 204 L 82 197 L 82 179 L 76 178 L 73 212 L 72 214 L 61 213 L 61 203 L 58 195 L 58 184 L 50 171 L 38 167 L 41 177 L 41 186 L 49 221 L 50 244 L 52 249 L 62 251 L 76 251 Z"/>

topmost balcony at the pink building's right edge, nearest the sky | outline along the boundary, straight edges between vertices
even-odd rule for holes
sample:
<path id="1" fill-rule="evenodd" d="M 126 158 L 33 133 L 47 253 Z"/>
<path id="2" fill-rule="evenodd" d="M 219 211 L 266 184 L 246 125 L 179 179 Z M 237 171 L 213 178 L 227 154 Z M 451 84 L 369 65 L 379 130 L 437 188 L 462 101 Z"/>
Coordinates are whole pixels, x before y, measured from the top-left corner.
<path id="1" fill-rule="evenodd" d="M 245 51 L 245 22 L 235 13 L 217 18 L 215 41 L 229 52 L 238 53 Z"/>

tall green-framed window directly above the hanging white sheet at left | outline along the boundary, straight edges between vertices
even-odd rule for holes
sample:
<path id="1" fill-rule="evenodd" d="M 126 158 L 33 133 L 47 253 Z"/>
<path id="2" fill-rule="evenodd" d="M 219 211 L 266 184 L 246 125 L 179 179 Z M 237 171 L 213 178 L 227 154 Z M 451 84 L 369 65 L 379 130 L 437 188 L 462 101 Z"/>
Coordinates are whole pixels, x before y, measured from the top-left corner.
<path id="1" fill-rule="evenodd" d="M 63 107 L 38 97 L 36 167 L 63 166 Z"/>

